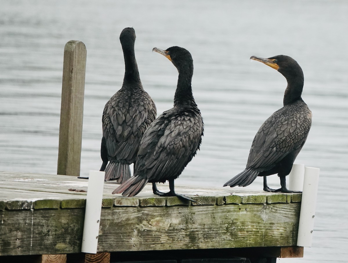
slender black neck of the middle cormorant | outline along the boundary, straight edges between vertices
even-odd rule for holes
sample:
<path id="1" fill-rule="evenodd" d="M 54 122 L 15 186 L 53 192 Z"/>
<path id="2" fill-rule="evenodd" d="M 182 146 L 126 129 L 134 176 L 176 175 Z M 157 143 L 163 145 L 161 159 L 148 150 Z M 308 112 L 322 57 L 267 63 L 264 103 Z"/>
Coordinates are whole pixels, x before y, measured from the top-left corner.
<path id="1" fill-rule="evenodd" d="M 194 105 L 195 99 L 192 95 L 191 80 L 193 75 L 193 67 L 178 68 L 179 77 L 177 79 L 177 86 L 174 95 L 174 106 L 188 106 Z"/>

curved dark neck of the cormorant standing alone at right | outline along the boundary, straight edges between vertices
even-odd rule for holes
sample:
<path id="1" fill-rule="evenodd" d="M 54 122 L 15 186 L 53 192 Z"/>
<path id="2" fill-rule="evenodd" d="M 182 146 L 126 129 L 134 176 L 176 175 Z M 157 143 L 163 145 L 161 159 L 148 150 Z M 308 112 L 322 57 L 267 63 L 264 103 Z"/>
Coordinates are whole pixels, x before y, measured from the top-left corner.
<path id="1" fill-rule="evenodd" d="M 286 73 L 283 72 L 282 74 L 287 80 L 287 87 L 283 99 L 283 104 L 286 106 L 301 99 L 304 78 L 302 69 Z"/>

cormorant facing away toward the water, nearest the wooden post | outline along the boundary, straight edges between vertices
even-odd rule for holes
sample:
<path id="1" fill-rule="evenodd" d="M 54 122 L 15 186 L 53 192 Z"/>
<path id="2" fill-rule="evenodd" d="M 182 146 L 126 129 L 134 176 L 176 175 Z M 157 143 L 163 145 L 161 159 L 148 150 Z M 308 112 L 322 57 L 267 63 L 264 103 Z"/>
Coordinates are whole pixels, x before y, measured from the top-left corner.
<path id="1" fill-rule="evenodd" d="M 134 53 L 135 30 L 122 30 L 120 42 L 125 59 L 125 76 L 121 89 L 104 107 L 100 151 L 103 164 L 100 171 L 105 170 L 105 181 L 112 179 L 123 183 L 130 178 L 129 164 L 134 163 L 140 140 L 155 120 L 157 110 L 141 84 Z"/>

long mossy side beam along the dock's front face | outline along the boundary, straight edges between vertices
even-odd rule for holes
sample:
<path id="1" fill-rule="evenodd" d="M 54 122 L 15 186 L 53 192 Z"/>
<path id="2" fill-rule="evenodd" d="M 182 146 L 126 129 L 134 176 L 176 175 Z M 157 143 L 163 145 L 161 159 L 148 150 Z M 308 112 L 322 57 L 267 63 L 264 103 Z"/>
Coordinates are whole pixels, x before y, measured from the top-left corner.
<path id="1" fill-rule="evenodd" d="M 98 251 L 293 246 L 299 210 L 300 203 L 103 208 Z M 0 218 L 0 255 L 80 252 L 83 208 L 3 210 Z"/>

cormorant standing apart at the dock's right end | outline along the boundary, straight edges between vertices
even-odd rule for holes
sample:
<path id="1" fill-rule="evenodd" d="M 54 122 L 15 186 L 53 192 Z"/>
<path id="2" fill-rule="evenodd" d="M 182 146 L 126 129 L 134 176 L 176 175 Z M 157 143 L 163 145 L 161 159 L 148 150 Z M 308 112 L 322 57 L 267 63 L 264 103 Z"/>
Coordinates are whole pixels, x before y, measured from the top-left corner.
<path id="1" fill-rule="evenodd" d="M 268 59 L 252 56 L 250 59 L 278 70 L 286 78 L 284 107 L 272 114 L 256 133 L 245 170 L 223 186 L 247 186 L 256 176 L 263 176 L 264 191 L 298 193 L 286 188 L 285 176 L 290 173 L 296 156 L 306 142 L 312 123 L 312 113 L 301 98 L 302 69 L 294 59 L 285 55 Z M 275 173 L 278 173 L 281 185 L 276 190 L 267 186 L 266 179 L 266 176 Z"/>

